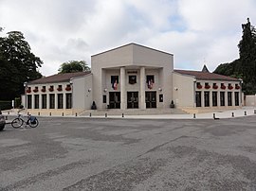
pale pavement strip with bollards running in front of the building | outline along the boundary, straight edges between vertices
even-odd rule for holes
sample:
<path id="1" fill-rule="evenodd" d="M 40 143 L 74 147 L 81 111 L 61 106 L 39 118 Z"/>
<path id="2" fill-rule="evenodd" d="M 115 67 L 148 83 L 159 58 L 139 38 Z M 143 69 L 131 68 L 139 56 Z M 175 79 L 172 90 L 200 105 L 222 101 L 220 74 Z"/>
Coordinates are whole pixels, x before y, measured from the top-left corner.
<path id="1" fill-rule="evenodd" d="M 17 113 L 11 111 L 3 111 L 4 115 L 11 116 L 13 118 Z M 26 113 L 21 113 L 26 115 Z M 223 112 L 214 112 L 214 113 L 196 113 L 196 114 L 150 114 L 150 115 L 68 115 L 63 117 L 84 117 L 84 118 L 129 118 L 129 119 L 213 119 L 215 118 L 234 118 L 234 117 L 243 117 L 247 115 L 256 115 L 255 107 L 243 107 L 239 110 L 229 110 Z M 40 115 L 42 117 L 49 117 L 48 115 Z M 61 116 L 51 116 L 51 117 L 61 117 Z M 8 120 L 9 121 L 9 120 Z"/>

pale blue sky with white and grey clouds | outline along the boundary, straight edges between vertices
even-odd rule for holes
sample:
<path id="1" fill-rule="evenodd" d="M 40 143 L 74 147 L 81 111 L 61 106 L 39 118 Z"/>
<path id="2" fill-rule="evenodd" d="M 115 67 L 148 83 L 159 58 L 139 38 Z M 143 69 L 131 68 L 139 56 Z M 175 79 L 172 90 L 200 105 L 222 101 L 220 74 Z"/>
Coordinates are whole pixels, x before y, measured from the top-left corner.
<path id="1" fill-rule="evenodd" d="M 21 31 L 44 76 L 127 43 L 174 54 L 174 69 L 212 72 L 239 58 L 255 9 L 255 0 L 0 0 L 0 36 Z"/>

